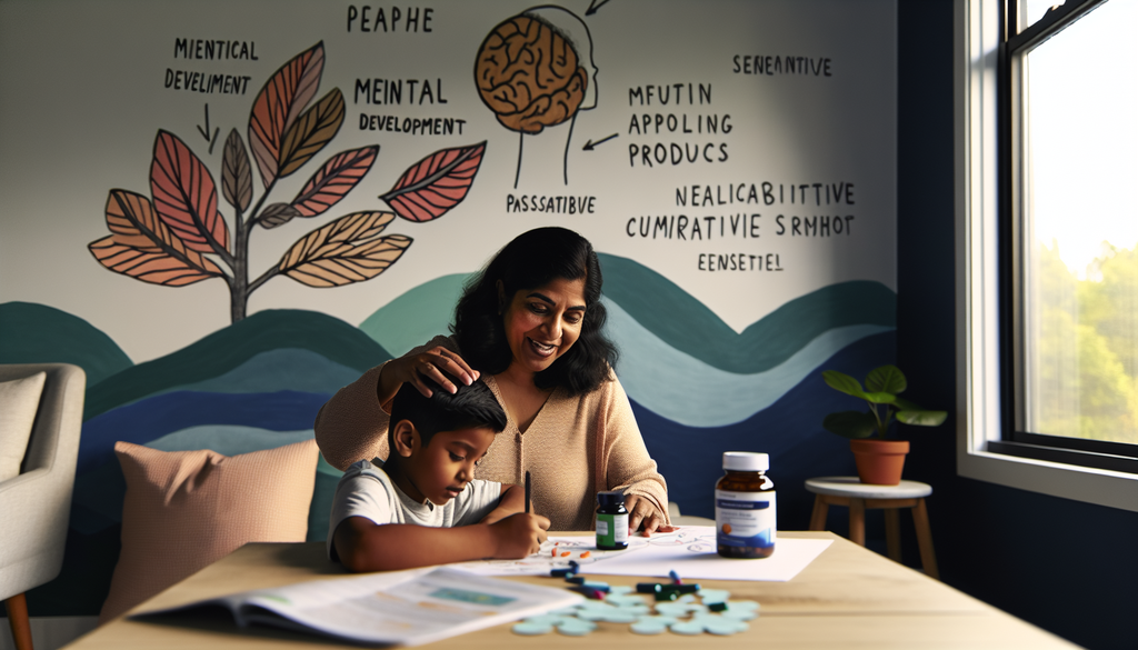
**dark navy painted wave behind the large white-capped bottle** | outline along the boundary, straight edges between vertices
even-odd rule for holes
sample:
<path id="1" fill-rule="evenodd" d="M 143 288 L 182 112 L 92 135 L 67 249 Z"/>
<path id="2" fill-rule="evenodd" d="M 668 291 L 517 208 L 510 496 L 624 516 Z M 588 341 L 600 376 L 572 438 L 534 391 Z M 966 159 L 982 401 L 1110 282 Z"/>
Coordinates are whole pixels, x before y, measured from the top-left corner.
<path id="1" fill-rule="evenodd" d="M 869 370 L 892 363 L 896 347 L 896 332 L 869 336 L 824 365 L 865 377 Z M 715 484 L 723 476 L 725 451 L 770 454 L 769 476 L 778 491 L 778 528 L 786 530 L 805 530 L 809 524 L 814 500 L 803 487 L 807 478 L 856 474 L 849 441 L 823 429 L 822 420 L 835 411 L 863 409 L 864 402 L 826 386 L 820 372 L 806 377 L 766 410 L 733 425 L 694 427 L 662 418 L 635 400 L 632 405 L 644 444 L 668 482 L 670 499 L 684 515 L 715 517 Z"/>

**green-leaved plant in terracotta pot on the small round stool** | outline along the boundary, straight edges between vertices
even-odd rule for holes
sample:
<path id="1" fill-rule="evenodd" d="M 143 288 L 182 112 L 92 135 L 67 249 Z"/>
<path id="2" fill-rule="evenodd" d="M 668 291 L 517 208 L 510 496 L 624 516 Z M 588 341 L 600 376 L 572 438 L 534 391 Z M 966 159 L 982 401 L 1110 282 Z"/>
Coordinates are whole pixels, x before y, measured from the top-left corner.
<path id="1" fill-rule="evenodd" d="M 882 365 L 865 377 L 865 389 L 849 375 L 836 370 L 822 373 L 826 385 L 835 390 L 865 400 L 869 410 L 830 413 L 822 426 L 827 431 L 850 438 L 850 450 L 857 463 L 861 483 L 897 485 L 901 482 L 908 441 L 890 438 L 893 419 L 906 425 L 937 427 L 945 422 L 945 411 L 926 411 L 913 402 L 898 397 L 908 382 L 896 365 Z"/>

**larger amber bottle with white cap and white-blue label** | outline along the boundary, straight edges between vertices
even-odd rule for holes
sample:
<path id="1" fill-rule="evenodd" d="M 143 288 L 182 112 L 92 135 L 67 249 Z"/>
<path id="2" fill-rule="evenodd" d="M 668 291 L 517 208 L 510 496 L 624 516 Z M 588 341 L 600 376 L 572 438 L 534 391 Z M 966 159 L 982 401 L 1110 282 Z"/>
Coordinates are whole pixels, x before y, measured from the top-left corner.
<path id="1" fill-rule="evenodd" d="M 725 558 L 769 558 L 775 552 L 775 484 L 770 460 L 754 452 L 724 452 L 715 485 L 716 549 Z"/>

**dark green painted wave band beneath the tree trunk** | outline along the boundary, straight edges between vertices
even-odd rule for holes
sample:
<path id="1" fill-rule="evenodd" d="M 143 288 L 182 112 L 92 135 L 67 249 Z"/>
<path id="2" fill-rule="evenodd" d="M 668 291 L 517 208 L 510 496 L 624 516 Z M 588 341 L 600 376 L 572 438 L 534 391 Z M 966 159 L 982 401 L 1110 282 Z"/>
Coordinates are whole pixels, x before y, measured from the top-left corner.
<path id="1" fill-rule="evenodd" d="M 266 310 L 92 386 L 86 392 L 83 419 L 148 395 L 213 379 L 263 352 L 280 348 L 307 349 L 357 373 L 391 359 L 381 345 L 337 318 L 300 310 Z"/>

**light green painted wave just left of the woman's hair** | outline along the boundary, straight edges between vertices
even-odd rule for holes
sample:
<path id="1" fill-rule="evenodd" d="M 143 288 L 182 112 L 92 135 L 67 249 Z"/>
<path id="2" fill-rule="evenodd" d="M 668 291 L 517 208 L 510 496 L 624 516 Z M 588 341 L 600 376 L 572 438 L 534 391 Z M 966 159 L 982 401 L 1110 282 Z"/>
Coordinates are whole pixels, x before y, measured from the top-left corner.
<path id="1" fill-rule="evenodd" d="M 360 329 L 395 356 L 402 356 L 436 335 L 448 335 L 454 305 L 470 278 L 454 273 L 413 287 L 376 310 Z"/>

